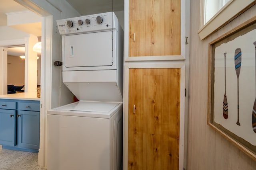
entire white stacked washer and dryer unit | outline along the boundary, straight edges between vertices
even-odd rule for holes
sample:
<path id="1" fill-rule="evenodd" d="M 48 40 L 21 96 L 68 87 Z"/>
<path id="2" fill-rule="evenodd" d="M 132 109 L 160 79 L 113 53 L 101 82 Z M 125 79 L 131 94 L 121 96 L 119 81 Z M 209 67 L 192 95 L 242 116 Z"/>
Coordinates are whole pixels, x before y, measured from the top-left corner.
<path id="1" fill-rule="evenodd" d="M 48 170 L 122 169 L 123 30 L 114 12 L 58 20 L 64 84 L 48 111 Z"/>

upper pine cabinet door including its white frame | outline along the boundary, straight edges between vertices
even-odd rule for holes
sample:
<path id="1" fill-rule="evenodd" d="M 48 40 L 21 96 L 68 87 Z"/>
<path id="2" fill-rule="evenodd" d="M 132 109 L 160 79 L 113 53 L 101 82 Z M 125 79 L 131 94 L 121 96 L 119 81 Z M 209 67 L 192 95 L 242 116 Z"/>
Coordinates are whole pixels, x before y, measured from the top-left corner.
<path id="1" fill-rule="evenodd" d="M 184 8 L 184 0 L 125 0 L 125 61 L 185 59 Z"/>

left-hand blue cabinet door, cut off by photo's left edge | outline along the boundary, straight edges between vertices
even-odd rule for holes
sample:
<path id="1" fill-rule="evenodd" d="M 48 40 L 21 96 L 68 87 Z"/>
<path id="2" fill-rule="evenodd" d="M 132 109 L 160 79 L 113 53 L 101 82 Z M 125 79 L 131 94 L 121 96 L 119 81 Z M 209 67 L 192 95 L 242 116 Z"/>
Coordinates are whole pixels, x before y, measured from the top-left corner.
<path id="1" fill-rule="evenodd" d="M 16 110 L 0 109 L 0 144 L 16 144 Z"/>

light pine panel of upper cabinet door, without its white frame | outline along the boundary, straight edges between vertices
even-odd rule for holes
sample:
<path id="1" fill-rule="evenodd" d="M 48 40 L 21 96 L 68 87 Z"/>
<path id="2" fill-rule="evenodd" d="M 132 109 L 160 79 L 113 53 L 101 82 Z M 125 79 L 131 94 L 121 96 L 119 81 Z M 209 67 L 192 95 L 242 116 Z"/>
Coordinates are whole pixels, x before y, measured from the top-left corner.
<path id="1" fill-rule="evenodd" d="M 129 0 L 128 56 L 180 55 L 180 8 L 180 0 Z"/>

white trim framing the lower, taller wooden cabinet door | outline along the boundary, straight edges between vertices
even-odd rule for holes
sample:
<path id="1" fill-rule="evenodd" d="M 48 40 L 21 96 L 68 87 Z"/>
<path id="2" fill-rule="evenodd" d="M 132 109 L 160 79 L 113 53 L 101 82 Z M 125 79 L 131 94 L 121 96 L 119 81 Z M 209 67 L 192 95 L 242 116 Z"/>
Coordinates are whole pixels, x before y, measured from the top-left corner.
<path id="1" fill-rule="evenodd" d="M 123 170 L 128 169 L 128 103 L 129 68 L 180 68 L 180 143 L 179 170 L 184 168 L 184 129 L 185 129 L 185 63 L 154 62 L 128 63 L 124 65 L 124 105 L 123 105 Z"/>

